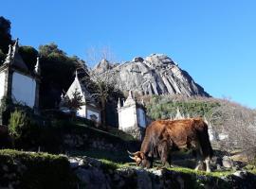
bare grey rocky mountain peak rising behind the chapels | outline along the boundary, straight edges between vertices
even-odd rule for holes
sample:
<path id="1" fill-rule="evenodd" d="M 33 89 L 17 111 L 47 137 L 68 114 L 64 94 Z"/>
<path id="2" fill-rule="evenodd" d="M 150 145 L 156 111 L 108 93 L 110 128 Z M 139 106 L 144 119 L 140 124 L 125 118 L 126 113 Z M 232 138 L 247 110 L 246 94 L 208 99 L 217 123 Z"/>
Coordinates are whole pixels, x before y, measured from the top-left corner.
<path id="1" fill-rule="evenodd" d="M 210 96 L 186 71 L 163 54 L 152 54 L 145 59 L 137 57 L 122 64 L 101 60 L 93 72 L 101 76 L 107 70 L 121 91 Z"/>

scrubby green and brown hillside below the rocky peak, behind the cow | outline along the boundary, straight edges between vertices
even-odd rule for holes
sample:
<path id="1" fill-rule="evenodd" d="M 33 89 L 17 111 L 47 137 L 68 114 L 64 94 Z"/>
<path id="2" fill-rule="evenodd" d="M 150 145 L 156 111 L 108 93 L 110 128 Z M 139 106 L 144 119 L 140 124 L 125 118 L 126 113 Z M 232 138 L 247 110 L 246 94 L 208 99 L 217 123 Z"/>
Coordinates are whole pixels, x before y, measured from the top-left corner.
<path id="1" fill-rule="evenodd" d="M 213 134 L 225 137 L 219 145 L 248 148 L 256 145 L 256 112 L 227 99 L 212 97 L 154 95 L 143 96 L 147 115 L 153 119 L 174 119 L 177 110 L 181 117 L 204 117 Z M 229 136 L 229 137 L 228 137 Z M 227 138 L 228 137 L 228 138 Z"/>

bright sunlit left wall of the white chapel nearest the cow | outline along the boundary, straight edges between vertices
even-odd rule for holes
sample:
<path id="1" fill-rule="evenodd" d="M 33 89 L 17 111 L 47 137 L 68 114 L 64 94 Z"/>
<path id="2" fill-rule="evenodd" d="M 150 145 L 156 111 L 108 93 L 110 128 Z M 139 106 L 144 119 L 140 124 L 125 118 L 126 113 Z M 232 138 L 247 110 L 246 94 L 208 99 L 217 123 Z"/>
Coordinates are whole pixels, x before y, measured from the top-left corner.
<path id="1" fill-rule="evenodd" d="M 134 107 L 121 110 L 119 112 L 119 128 L 128 129 L 134 127 L 137 120 L 137 114 L 135 113 Z"/>

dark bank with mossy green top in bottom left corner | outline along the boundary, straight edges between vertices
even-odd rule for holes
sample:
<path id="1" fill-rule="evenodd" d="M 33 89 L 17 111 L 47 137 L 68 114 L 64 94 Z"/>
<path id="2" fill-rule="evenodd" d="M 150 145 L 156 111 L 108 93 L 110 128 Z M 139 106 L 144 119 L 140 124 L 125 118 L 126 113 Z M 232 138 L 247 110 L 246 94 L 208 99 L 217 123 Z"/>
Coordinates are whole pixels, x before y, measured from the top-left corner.
<path id="1" fill-rule="evenodd" d="M 10 182 L 17 184 L 14 188 L 76 188 L 77 179 L 64 156 L 4 149 L 0 167 L 4 165 L 13 173 L 8 180 L 0 177 L 1 186 L 7 188 Z"/>

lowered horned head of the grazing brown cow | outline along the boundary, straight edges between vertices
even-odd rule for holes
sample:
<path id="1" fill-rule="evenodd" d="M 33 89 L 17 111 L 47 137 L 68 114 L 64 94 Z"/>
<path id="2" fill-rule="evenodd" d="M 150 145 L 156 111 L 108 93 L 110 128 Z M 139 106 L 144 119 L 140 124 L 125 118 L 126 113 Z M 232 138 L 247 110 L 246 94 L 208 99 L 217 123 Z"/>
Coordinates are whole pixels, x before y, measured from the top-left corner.
<path id="1" fill-rule="evenodd" d="M 142 151 L 137 151 L 135 153 L 129 152 L 130 158 L 134 160 L 137 164 L 137 166 L 142 166 L 142 167 L 147 167 L 151 168 L 153 165 L 153 160 L 151 157 L 148 157 L 144 152 Z"/>

